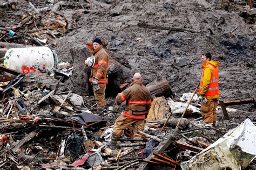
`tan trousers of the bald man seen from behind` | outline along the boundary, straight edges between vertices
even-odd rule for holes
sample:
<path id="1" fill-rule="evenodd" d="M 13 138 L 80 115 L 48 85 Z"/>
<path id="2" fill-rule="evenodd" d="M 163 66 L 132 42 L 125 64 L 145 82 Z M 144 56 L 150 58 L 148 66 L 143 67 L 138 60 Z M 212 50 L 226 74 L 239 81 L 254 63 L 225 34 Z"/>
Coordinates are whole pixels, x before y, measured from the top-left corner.
<path id="1" fill-rule="evenodd" d="M 133 129 L 133 138 L 140 139 L 142 136 L 138 134 L 138 131 L 144 130 L 145 127 L 145 119 L 132 119 L 129 117 L 124 117 L 120 115 L 116 122 L 114 123 L 114 129 L 112 133 L 112 139 L 118 140 L 123 134 L 123 130 L 132 125 Z"/>

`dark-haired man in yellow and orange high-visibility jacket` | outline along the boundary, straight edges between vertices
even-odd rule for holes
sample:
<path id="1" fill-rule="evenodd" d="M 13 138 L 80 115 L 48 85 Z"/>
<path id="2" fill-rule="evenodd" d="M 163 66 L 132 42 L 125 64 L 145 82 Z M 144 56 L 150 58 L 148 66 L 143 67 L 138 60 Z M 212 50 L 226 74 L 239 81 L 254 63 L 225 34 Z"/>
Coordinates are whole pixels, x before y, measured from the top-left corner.
<path id="1" fill-rule="evenodd" d="M 199 84 L 199 102 L 201 103 L 201 115 L 206 126 L 216 125 L 216 108 L 219 98 L 219 61 L 211 61 L 211 59 L 211 53 L 201 56 L 204 70 Z"/>

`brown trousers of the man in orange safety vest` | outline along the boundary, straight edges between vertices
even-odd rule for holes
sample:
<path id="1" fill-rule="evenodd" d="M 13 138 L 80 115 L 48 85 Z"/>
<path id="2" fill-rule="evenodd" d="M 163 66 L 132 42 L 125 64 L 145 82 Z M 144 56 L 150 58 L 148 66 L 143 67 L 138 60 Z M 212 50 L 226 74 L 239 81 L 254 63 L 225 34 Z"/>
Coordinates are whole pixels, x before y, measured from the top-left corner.
<path id="1" fill-rule="evenodd" d="M 207 103 L 201 101 L 201 115 L 205 123 L 216 124 L 217 114 L 216 108 L 218 105 L 217 98 L 207 99 Z"/>

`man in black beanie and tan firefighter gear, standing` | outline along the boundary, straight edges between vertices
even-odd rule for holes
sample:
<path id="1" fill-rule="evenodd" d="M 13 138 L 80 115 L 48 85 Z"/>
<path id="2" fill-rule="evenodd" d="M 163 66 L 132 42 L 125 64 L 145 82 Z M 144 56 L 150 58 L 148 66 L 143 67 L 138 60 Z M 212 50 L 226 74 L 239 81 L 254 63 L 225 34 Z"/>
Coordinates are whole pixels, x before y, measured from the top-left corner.
<path id="1" fill-rule="evenodd" d="M 105 90 L 107 84 L 107 69 L 109 68 L 109 55 L 102 47 L 102 40 L 93 40 L 92 54 L 95 56 L 95 64 L 92 66 L 92 75 L 89 82 L 93 85 L 93 94 L 97 101 L 97 112 L 103 113 L 105 109 Z"/>

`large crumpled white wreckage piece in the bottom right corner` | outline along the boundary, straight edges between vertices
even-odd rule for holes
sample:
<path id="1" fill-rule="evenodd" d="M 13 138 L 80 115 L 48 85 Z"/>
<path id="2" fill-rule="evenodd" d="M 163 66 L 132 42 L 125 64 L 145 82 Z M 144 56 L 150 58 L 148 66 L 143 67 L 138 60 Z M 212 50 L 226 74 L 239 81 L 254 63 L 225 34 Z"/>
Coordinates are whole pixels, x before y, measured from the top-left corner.
<path id="1" fill-rule="evenodd" d="M 256 128 L 246 119 L 211 146 L 181 163 L 185 169 L 242 169 L 256 155 Z"/>

